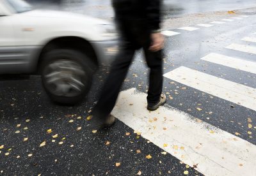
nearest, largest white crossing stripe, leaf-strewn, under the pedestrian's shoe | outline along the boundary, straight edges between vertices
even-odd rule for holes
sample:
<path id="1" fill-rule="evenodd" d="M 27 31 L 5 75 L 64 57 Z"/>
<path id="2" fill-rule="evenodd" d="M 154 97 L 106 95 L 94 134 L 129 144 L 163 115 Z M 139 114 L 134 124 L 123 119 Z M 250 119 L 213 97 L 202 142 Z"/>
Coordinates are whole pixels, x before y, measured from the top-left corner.
<path id="1" fill-rule="evenodd" d="M 204 175 L 256 175 L 256 146 L 252 143 L 168 105 L 154 112 L 148 112 L 146 106 L 147 94 L 129 89 L 120 93 L 112 114 L 180 161 L 196 165 Z M 154 151 L 147 154 L 159 155 Z"/>

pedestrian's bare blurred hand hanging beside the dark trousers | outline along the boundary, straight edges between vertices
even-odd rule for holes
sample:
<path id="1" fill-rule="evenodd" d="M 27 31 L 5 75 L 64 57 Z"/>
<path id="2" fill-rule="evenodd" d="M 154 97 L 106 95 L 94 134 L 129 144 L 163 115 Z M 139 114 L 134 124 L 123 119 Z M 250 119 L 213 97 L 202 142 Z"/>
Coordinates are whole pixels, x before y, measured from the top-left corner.
<path id="1" fill-rule="evenodd" d="M 152 52 L 157 52 L 164 48 L 164 37 L 161 33 L 152 33 L 150 37 L 152 43 L 149 50 Z"/>

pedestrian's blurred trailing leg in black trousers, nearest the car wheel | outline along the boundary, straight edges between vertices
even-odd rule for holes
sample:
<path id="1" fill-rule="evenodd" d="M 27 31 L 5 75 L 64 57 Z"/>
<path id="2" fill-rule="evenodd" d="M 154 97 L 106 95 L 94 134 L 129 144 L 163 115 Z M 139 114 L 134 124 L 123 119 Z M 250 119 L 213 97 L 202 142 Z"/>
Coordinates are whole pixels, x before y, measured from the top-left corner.
<path id="1" fill-rule="evenodd" d="M 93 115 L 102 122 L 108 117 L 113 110 L 118 93 L 122 87 L 124 78 L 132 61 L 135 50 L 132 48 L 121 48 L 120 53 L 111 66 L 108 78 L 102 87 L 99 101 L 93 108 Z"/>

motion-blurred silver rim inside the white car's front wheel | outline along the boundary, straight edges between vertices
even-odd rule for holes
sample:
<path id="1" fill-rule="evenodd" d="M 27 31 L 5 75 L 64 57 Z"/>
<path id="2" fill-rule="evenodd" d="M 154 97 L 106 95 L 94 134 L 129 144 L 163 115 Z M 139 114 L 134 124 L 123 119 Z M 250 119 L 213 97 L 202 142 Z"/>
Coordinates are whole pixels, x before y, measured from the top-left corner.
<path id="1" fill-rule="evenodd" d="M 76 61 L 58 60 L 44 69 L 46 89 L 56 96 L 79 96 L 84 90 L 86 73 Z"/>

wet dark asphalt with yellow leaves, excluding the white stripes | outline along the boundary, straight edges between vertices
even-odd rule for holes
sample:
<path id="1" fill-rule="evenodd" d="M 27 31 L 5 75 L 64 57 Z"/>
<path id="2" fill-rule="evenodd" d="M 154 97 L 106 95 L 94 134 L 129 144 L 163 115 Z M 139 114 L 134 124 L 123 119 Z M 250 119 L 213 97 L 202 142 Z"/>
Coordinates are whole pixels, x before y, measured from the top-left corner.
<path id="1" fill-rule="evenodd" d="M 204 6 L 206 3 L 200 1 L 197 4 Z M 247 8 L 250 1 L 247 4 L 238 1 L 230 4 L 234 8 L 242 8 L 243 5 Z M 223 10 L 228 5 L 219 4 L 216 8 L 218 6 Z M 197 31 L 182 31 L 170 26 L 172 31 L 181 34 L 166 37 L 164 73 L 186 66 L 256 88 L 253 73 L 200 61 L 201 57 L 216 52 L 255 62 L 253 54 L 225 48 L 231 43 L 248 44 L 241 38 L 256 32 L 255 17 L 254 12 L 250 11 L 250 17 L 243 20 L 198 27 L 200 29 Z M 52 103 L 42 89 L 40 77 L 1 76 L 0 146 L 4 146 L 0 149 L 0 175 L 136 175 L 138 172 L 141 175 L 184 175 L 185 170 L 188 170 L 189 175 L 202 175 L 191 167 L 186 168 L 172 155 L 161 154 L 162 149 L 134 134 L 123 122 L 117 121 L 113 128 L 92 133 L 92 123 L 86 117 L 97 101 L 104 80 L 102 75 L 106 72 L 108 70 L 103 69 L 95 75 L 97 82 L 92 91 L 82 103 L 75 106 Z M 136 87 L 147 92 L 147 73 L 143 55 L 138 51 L 122 90 Z M 256 129 L 250 129 L 252 135 L 248 134 L 248 118 L 252 119 L 253 127 L 256 126 L 255 111 L 168 78 L 164 78 L 163 87 L 163 92 L 173 97 L 168 99 L 168 105 L 228 133 L 239 133 L 240 138 L 256 145 Z M 198 106 L 202 111 L 196 110 Z M 145 158 L 148 154 L 152 159 Z M 116 163 L 120 163 L 120 166 L 116 166 Z"/>

